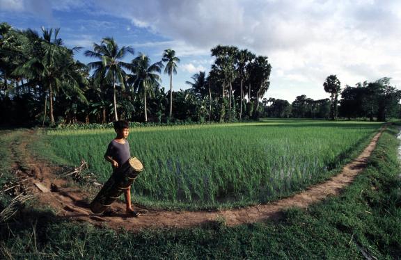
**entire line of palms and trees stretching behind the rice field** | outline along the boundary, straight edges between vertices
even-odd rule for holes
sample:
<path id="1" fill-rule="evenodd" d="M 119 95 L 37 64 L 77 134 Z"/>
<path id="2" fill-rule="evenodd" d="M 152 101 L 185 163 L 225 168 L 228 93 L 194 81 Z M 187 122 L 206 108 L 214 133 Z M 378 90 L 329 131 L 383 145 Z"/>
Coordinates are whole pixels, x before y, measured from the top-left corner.
<path id="1" fill-rule="evenodd" d="M 161 60 L 152 63 L 146 54 L 135 56 L 132 47 L 103 38 L 84 51 L 93 59 L 84 64 L 74 59 L 82 48 L 66 47 L 59 33 L 60 29 L 42 28 L 38 33 L 0 24 L 0 123 L 233 122 L 260 116 L 338 115 L 385 119 L 390 115 L 388 100 L 399 100 L 385 78 L 361 84 L 359 88 L 366 90 L 363 97 L 347 86 L 338 101 L 340 81 L 335 75 L 324 82 L 330 99 L 313 101 L 301 95 L 292 104 L 262 99 L 272 71 L 267 56 L 223 45 L 211 49 L 210 72 L 194 74 L 186 82 L 188 89 L 173 91 L 173 74 L 180 63 L 173 49 L 164 50 Z M 125 62 L 129 56 L 132 60 Z M 162 86 L 162 73 L 169 76 L 168 90 Z M 359 108 L 356 99 L 370 105 Z"/>

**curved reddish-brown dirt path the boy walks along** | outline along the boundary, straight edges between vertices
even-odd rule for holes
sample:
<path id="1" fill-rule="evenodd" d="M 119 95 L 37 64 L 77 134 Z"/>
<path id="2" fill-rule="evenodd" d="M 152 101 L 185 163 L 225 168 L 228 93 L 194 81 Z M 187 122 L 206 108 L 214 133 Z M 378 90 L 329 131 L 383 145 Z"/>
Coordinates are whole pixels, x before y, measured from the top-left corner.
<path id="1" fill-rule="evenodd" d="M 292 197 L 278 200 L 269 204 L 249 206 L 244 209 L 227 209 L 220 211 L 159 211 L 149 210 L 146 216 L 130 218 L 125 215 L 123 203 L 115 202 L 112 209 L 117 212 L 116 216 L 102 217 L 91 213 L 88 209 L 88 201 L 91 195 L 87 191 L 80 190 L 70 181 L 60 179 L 46 161 L 34 159 L 26 149 L 27 143 L 35 138 L 34 132 L 26 131 L 18 149 L 23 151 L 25 164 L 31 170 L 18 170 L 21 179 L 29 182 L 29 190 L 38 197 L 38 206 L 51 206 L 59 218 L 68 218 L 91 222 L 93 225 L 104 225 L 111 228 L 127 230 L 139 230 L 150 227 L 194 227 L 224 219 L 226 225 L 239 225 L 249 222 L 258 222 L 267 218 L 279 218 L 284 209 L 290 207 L 306 208 L 314 202 L 323 200 L 329 195 L 338 195 L 340 191 L 349 185 L 356 174 L 365 169 L 368 157 L 375 149 L 377 140 L 382 134 L 382 129 L 372 138 L 368 147 L 351 163 L 345 165 L 343 171 L 322 184 L 310 186 L 307 190 Z M 15 156 L 14 156 L 15 157 Z M 15 163 L 15 167 L 19 167 Z M 140 206 L 134 205 L 137 210 Z"/>

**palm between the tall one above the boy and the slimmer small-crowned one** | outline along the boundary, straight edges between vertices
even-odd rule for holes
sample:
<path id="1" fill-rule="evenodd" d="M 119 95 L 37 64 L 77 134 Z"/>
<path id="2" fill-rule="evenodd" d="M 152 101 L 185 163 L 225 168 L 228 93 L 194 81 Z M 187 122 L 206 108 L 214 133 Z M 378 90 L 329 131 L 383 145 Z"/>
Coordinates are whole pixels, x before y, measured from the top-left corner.
<path id="1" fill-rule="evenodd" d="M 134 87 L 134 91 L 143 93 L 143 103 L 145 105 L 145 122 L 148 122 L 148 108 L 146 106 L 146 92 L 152 94 L 152 89 L 160 85 L 162 61 L 150 64 L 150 58 L 145 54 L 139 54 L 132 60 L 129 68 L 134 73 L 129 76 L 128 82 Z"/>

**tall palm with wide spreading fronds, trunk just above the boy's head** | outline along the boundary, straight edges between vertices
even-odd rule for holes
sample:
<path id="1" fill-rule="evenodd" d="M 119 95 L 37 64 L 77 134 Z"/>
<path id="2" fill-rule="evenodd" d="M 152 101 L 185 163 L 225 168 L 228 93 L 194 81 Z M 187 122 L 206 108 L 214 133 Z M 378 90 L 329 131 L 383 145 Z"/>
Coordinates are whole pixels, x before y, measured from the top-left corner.
<path id="1" fill-rule="evenodd" d="M 126 74 L 123 68 L 129 69 L 129 63 L 122 60 L 127 53 L 134 54 L 134 49 L 125 46 L 119 48 L 113 38 L 103 38 L 100 44 L 93 43 L 93 51 L 85 51 L 85 56 L 99 60 L 88 63 L 88 67 L 95 70 L 93 76 L 97 79 L 96 81 L 106 79 L 106 81 L 113 83 L 113 107 L 116 121 L 118 120 L 116 83 L 120 83 L 122 90 L 125 90 L 124 79 Z"/>

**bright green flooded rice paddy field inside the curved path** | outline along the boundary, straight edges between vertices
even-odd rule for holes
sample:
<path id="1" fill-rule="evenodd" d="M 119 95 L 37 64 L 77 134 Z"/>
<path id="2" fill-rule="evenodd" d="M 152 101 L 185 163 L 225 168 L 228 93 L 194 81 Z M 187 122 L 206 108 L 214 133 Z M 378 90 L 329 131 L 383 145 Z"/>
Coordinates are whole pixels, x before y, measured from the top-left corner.
<path id="1" fill-rule="evenodd" d="M 382 124 L 315 120 L 176 127 L 134 127 L 131 155 L 145 170 L 133 201 L 164 209 L 217 209 L 260 204 L 303 190 L 336 174 L 368 145 Z M 86 160 L 101 182 L 111 165 L 103 155 L 113 129 L 45 133 L 53 161 Z"/>

